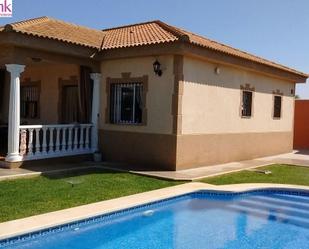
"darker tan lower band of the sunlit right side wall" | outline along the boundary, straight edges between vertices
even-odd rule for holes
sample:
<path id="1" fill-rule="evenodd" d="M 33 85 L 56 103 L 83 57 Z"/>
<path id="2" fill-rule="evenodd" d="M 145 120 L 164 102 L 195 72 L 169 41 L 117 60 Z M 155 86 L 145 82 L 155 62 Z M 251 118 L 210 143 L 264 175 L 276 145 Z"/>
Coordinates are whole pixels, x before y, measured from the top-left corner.
<path id="1" fill-rule="evenodd" d="M 292 132 L 180 135 L 176 168 L 249 160 L 289 152 L 292 148 Z"/>

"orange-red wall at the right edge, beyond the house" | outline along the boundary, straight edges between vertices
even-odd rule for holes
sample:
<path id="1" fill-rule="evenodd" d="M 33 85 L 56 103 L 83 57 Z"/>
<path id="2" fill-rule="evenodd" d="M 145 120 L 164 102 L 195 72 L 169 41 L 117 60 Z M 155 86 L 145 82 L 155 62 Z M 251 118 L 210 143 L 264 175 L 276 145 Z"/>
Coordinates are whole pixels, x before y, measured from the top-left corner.
<path id="1" fill-rule="evenodd" d="M 295 101 L 294 148 L 309 149 L 309 100 Z"/>

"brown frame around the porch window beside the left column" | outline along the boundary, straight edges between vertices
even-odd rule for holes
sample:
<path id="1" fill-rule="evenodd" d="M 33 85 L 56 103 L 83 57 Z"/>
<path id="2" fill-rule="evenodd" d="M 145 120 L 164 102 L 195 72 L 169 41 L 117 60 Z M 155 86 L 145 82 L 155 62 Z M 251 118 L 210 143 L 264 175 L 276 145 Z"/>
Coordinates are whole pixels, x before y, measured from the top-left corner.
<path id="1" fill-rule="evenodd" d="M 38 94 L 38 100 L 37 102 L 37 115 L 35 117 L 30 116 L 22 116 L 22 89 L 26 87 L 36 87 L 37 88 L 37 94 Z M 20 118 L 22 120 L 38 120 L 41 117 L 41 81 L 31 81 L 30 78 L 24 79 L 20 83 Z"/>

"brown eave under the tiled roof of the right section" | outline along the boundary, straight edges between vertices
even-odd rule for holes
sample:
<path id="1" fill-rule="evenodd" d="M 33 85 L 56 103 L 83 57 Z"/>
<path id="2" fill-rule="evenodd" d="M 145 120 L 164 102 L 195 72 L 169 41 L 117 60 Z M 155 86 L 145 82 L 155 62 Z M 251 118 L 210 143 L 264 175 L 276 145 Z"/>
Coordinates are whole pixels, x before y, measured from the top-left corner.
<path id="1" fill-rule="evenodd" d="M 295 72 L 282 70 L 280 68 L 233 56 L 221 51 L 195 45 L 188 41 L 171 41 L 165 43 L 108 48 L 101 50 L 97 54 L 97 59 L 108 60 L 167 54 L 180 54 L 198 57 L 213 63 L 226 64 L 229 66 L 242 68 L 244 70 L 254 71 L 256 73 L 262 73 L 271 77 L 284 79 L 292 83 L 305 83 L 308 78 L 307 74 L 298 74 Z"/>

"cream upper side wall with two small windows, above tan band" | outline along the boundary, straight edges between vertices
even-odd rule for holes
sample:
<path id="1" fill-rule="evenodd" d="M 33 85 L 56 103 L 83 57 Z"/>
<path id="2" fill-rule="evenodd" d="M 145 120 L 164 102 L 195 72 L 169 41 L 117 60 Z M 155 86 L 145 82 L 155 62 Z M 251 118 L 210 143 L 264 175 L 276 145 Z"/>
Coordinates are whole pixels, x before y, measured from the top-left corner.
<path id="1" fill-rule="evenodd" d="M 294 84 L 245 70 L 184 58 L 183 134 L 283 132 L 293 130 Z M 240 85 L 255 87 L 253 117 L 241 118 Z M 282 118 L 273 119 L 274 90 L 283 92 Z"/>

